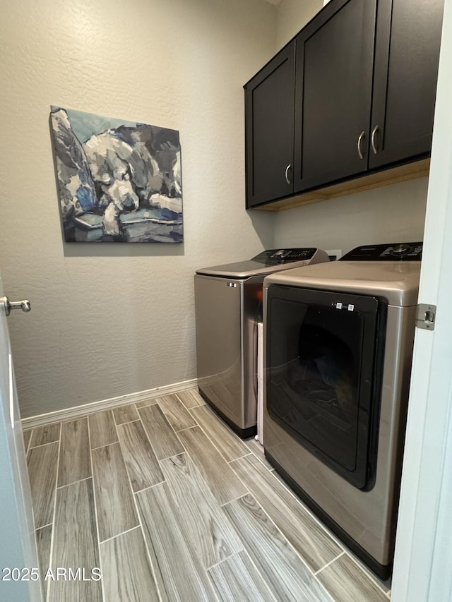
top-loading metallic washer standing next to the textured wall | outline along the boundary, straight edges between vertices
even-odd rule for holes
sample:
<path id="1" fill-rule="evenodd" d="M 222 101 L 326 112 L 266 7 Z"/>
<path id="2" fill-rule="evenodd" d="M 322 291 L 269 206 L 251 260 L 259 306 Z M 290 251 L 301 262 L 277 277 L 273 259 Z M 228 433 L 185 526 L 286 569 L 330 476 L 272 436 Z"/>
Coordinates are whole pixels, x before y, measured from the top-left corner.
<path id="1" fill-rule="evenodd" d="M 318 248 L 279 248 L 239 263 L 196 270 L 198 389 L 241 437 L 256 433 L 257 329 L 262 321 L 263 278 L 328 260 Z"/>

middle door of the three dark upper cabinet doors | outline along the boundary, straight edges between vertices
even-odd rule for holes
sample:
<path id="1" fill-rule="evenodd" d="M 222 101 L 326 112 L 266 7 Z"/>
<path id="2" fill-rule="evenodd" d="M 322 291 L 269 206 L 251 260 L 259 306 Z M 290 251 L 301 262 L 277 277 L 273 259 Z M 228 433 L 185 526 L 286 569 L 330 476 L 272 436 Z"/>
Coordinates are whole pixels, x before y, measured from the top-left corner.
<path id="1" fill-rule="evenodd" d="M 338 0 L 296 38 L 295 192 L 367 169 L 376 0 Z"/>

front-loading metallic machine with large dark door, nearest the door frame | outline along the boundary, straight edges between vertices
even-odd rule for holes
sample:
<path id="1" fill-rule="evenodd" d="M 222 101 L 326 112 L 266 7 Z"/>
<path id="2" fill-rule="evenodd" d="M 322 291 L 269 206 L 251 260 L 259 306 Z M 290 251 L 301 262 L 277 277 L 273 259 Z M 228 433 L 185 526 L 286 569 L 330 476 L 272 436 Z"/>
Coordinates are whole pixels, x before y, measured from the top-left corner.
<path id="1" fill-rule="evenodd" d="M 293 490 L 391 574 L 422 243 L 355 248 L 263 282 L 263 445 Z"/>

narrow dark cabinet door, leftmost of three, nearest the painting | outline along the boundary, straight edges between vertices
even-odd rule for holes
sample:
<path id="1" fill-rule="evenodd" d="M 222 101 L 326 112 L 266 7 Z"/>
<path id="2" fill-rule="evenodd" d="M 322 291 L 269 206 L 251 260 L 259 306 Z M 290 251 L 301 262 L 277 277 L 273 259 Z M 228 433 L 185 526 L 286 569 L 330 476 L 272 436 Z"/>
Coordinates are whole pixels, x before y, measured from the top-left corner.
<path id="1" fill-rule="evenodd" d="M 246 207 L 292 194 L 295 42 L 245 86 Z"/>

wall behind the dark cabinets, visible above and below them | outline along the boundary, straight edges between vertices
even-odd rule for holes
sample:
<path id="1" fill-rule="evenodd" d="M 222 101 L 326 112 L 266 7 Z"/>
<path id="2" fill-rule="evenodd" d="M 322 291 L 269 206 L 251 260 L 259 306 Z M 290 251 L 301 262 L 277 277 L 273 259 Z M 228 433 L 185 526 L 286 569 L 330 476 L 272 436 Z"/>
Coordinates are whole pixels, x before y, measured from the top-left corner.
<path id="1" fill-rule="evenodd" d="M 276 49 L 283 47 L 323 6 L 322 0 L 283 0 L 278 7 Z M 281 211 L 275 246 L 319 246 L 350 251 L 367 243 L 422 240 L 427 179 Z"/>

